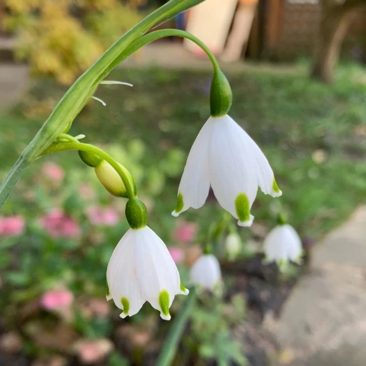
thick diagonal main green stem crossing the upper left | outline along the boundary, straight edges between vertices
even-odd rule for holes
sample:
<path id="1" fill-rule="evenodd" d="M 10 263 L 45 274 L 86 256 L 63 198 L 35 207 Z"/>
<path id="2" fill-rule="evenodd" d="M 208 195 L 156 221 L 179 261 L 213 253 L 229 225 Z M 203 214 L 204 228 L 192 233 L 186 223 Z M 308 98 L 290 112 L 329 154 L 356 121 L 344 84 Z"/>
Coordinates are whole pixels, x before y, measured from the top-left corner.
<path id="1" fill-rule="evenodd" d="M 0 185 L 0 209 L 26 167 L 37 159 L 56 138 L 67 132 L 84 105 L 96 91 L 99 83 L 122 60 L 128 57 L 125 49 L 141 38 L 151 27 L 203 2 L 203 0 L 170 0 L 149 14 L 126 32 L 67 90 L 33 140 L 26 146 L 17 162 Z"/>

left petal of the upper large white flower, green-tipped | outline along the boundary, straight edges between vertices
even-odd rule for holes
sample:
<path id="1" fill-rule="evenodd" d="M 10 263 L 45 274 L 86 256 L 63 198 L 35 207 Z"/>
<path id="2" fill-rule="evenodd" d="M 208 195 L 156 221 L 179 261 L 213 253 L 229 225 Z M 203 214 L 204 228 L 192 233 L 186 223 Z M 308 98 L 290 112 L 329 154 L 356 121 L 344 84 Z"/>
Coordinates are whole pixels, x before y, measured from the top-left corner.
<path id="1" fill-rule="evenodd" d="M 178 216 L 189 207 L 200 208 L 206 201 L 210 188 L 208 150 L 211 128 L 212 122 L 211 119 L 208 119 L 188 154 L 178 188 L 178 202 L 172 212 L 173 216 Z"/>

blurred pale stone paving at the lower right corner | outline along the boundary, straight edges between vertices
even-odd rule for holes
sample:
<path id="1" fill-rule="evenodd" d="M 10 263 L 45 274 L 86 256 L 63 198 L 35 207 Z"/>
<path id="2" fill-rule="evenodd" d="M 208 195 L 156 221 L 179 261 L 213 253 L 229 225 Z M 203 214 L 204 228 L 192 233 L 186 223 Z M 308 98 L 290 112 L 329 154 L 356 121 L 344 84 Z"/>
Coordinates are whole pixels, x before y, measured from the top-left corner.
<path id="1" fill-rule="evenodd" d="M 314 249 L 280 318 L 264 327 L 290 366 L 366 365 L 366 206 Z"/>

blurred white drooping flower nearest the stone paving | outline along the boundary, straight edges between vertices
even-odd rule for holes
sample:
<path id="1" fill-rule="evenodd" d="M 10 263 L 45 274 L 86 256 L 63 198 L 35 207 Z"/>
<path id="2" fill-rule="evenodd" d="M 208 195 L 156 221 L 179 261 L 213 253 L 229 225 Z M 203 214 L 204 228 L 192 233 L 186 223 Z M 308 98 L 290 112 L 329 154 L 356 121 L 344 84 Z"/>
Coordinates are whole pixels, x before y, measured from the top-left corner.
<path id="1" fill-rule="evenodd" d="M 276 262 L 285 270 L 289 261 L 301 264 L 303 247 L 296 230 L 289 224 L 273 228 L 264 239 L 265 262 Z"/>

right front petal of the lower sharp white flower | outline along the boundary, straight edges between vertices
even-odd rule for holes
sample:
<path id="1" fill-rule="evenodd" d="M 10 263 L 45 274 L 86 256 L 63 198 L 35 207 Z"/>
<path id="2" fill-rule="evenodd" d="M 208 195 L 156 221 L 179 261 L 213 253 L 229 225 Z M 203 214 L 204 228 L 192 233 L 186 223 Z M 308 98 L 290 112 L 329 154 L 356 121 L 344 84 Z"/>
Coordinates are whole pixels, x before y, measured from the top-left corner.
<path id="1" fill-rule="evenodd" d="M 136 273 L 142 297 L 160 310 L 163 319 L 168 319 L 167 309 L 175 295 L 182 293 L 177 266 L 153 230 L 145 226 L 136 232 L 139 236 L 136 241 Z"/>

